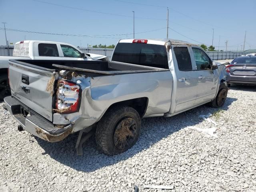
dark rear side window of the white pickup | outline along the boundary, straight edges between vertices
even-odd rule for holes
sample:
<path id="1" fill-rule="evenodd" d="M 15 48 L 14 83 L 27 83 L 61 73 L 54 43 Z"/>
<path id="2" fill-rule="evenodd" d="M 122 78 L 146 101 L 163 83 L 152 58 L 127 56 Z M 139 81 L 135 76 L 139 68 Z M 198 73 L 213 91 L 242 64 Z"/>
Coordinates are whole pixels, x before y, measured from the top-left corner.
<path id="1" fill-rule="evenodd" d="M 40 43 L 38 44 L 39 56 L 58 57 L 58 48 L 56 44 Z"/>

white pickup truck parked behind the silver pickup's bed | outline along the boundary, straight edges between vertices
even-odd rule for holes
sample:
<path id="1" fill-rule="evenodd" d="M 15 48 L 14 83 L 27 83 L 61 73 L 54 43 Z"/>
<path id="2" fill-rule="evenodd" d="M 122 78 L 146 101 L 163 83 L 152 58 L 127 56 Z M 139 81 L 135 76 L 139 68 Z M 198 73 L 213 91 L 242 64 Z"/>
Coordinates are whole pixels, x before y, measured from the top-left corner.
<path id="1" fill-rule="evenodd" d="M 98 54 L 83 53 L 67 43 L 50 41 L 20 41 L 14 46 L 13 56 L 0 56 L 0 100 L 10 95 L 8 85 L 8 61 L 18 60 L 108 60 L 108 57 Z"/>

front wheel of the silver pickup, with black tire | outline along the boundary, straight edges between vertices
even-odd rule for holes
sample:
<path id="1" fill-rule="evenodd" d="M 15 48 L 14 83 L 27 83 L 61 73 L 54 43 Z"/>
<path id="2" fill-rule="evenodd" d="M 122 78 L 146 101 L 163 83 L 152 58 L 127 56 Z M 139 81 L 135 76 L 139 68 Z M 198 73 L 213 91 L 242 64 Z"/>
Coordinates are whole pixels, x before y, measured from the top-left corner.
<path id="1" fill-rule="evenodd" d="M 214 108 L 222 107 L 226 101 L 227 94 L 228 94 L 228 87 L 226 86 L 226 84 L 224 84 L 224 82 L 221 82 L 217 96 L 214 98 L 214 100 L 209 102 L 210 107 L 214 107 Z"/>

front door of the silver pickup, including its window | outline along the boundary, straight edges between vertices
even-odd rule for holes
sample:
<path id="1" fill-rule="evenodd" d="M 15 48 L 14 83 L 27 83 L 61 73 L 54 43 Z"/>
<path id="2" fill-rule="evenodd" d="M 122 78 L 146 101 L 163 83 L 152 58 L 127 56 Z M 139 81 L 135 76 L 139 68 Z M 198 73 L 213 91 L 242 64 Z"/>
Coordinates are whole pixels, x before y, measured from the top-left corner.
<path id="1" fill-rule="evenodd" d="M 198 78 L 196 91 L 196 105 L 212 100 L 217 92 L 218 72 L 212 70 L 212 60 L 198 47 L 191 48 L 193 53 L 192 61 L 196 65 L 193 73 Z"/>

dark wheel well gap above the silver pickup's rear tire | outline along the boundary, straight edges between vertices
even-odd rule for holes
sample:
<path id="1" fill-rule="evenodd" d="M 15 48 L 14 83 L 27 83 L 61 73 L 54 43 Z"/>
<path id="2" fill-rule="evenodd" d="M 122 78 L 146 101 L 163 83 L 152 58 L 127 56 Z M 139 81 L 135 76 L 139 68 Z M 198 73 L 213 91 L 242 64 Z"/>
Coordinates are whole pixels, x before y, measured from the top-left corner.
<path id="1" fill-rule="evenodd" d="M 141 98 L 135 98 L 135 99 L 129 99 L 129 100 L 125 100 L 125 101 L 120 101 L 120 102 L 112 104 L 108 108 L 108 110 L 110 110 L 110 108 L 112 108 L 114 106 L 117 106 L 117 105 L 132 107 L 138 112 L 140 117 L 142 117 L 146 113 L 146 109 L 147 109 L 147 106 L 148 106 L 148 98 L 141 97 Z"/>

